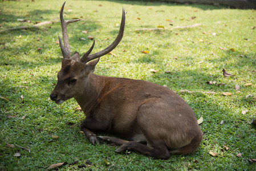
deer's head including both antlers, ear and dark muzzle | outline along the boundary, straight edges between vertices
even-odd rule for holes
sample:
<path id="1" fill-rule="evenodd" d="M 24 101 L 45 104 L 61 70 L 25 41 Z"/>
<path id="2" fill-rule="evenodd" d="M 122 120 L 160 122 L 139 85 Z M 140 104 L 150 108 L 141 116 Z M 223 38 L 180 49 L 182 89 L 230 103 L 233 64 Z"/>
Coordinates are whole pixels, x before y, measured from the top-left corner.
<path id="1" fill-rule="evenodd" d="M 78 22 L 80 19 L 64 21 L 63 9 L 65 3 L 66 2 L 63 3 L 62 9 L 60 10 L 60 22 L 62 25 L 62 36 L 64 42 L 63 46 L 62 40 L 59 36 L 60 50 L 62 51 L 63 55 L 62 68 L 58 72 L 58 82 L 50 95 L 51 100 L 55 101 L 56 104 L 62 104 L 64 101 L 75 97 L 78 93 L 81 93 L 80 87 L 84 87 L 88 83 L 88 78 L 90 74 L 94 72 L 95 66 L 97 62 L 99 62 L 100 56 L 111 52 L 123 38 L 125 26 L 125 12 L 123 8 L 119 34 L 112 44 L 110 44 L 104 50 L 96 52 L 95 54 L 90 54 L 94 48 L 94 41 L 91 48 L 86 53 L 84 53 L 82 58 L 80 58 L 78 52 L 75 52 L 71 56 L 70 45 L 68 44 L 67 25 L 72 22 Z"/>

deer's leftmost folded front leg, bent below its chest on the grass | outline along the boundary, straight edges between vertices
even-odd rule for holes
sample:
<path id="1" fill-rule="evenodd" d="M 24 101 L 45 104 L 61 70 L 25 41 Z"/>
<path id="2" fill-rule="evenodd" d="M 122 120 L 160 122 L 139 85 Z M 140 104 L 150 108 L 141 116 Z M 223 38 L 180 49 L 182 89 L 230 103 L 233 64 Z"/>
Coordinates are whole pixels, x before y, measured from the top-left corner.
<path id="1" fill-rule="evenodd" d="M 91 132 L 90 129 L 104 131 L 104 129 L 106 128 L 107 128 L 107 125 L 99 124 L 97 121 L 95 121 L 94 119 L 91 119 L 90 117 L 86 117 L 86 120 L 84 120 L 80 126 L 81 131 L 84 132 L 84 134 L 92 144 L 103 143 L 103 140 L 100 139 L 98 136 L 96 136 L 93 132 Z"/>

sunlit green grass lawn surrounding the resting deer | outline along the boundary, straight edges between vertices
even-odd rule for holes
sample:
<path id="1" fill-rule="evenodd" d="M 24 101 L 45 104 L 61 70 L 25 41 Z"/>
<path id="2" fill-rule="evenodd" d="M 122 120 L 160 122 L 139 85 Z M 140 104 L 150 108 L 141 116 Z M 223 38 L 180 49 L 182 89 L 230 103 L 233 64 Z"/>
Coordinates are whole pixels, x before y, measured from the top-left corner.
<path id="1" fill-rule="evenodd" d="M 62 3 L 1 1 L 0 31 L 59 17 Z M 250 124 L 256 117 L 256 28 L 251 28 L 256 26 L 255 10 L 160 2 L 67 1 L 65 19 L 82 19 L 68 26 L 71 52 L 86 52 L 92 40 L 80 38 L 88 35 L 96 40 L 93 52 L 107 47 L 117 35 L 119 27 L 115 23 L 120 24 L 121 7 L 128 11 L 124 38 L 112 51 L 116 56 L 101 57 L 95 73 L 148 80 L 176 91 L 192 107 L 197 119 L 204 117 L 200 124 L 204 132 L 200 149 L 194 154 L 158 160 L 135 152 L 116 154 L 116 147 L 107 144 L 91 145 L 79 133 L 85 116 L 75 110 L 76 101 L 71 99 L 56 105 L 49 97 L 61 63 L 59 44 L 55 43 L 61 35 L 58 22 L 0 33 L 0 96 L 9 99 L 0 99 L 0 170 L 46 170 L 58 162 L 68 163 L 60 170 L 254 170 L 255 163 L 248 159 L 256 158 L 256 127 Z M 201 25 L 173 28 L 195 23 Z M 135 31 L 157 26 L 166 29 Z M 84 34 L 83 30 L 88 33 Z M 144 50 L 149 54 L 143 54 Z M 235 76 L 225 78 L 223 68 Z M 151 69 L 157 72 L 152 73 Z M 164 71 L 168 70 L 170 73 L 166 74 Z M 226 85 L 206 84 L 209 81 Z M 246 83 L 253 86 L 246 87 Z M 241 87 L 240 92 L 235 92 L 236 84 Z M 180 93 L 182 89 L 216 94 Z M 226 97 L 222 92 L 233 94 Z M 249 94 L 251 97 L 246 99 Z M 241 112 L 247 110 L 242 115 Z M 52 139 L 51 135 L 59 139 Z M 23 146 L 31 153 L 18 147 L 7 148 L 6 143 Z M 210 151 L 218 156 L 210 156 Z M 21 156 L 13 157 L 15 152 Z M 237 157 L 238 153 L 242 153 L 242 157 Z M 91 166 L 78 168 L 87 160 L 92 162 Z M 78 163 L 69 165 L 75 161 Z"/>

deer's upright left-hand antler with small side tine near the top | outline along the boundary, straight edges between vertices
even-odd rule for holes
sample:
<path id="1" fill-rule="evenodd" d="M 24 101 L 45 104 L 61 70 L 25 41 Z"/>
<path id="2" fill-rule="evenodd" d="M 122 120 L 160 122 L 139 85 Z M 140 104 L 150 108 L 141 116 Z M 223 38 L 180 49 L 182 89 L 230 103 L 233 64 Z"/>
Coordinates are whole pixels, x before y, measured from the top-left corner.
<path id="1" fill-rule="evenodd" d="M 62 50 L 62 55 L 64 59 L 70 59 L 70 44 L 68 44 L 68 33 L 67 33 L 67 25 L 72 22 L 78 22 L 80 19 L 71 19 L 70 21 L 64 21 L 63 18 L 63 10 L 65 6 L 66 1 L 62 5 L 62 9 L 60 10 L 59 18 L 60 22 L 62 23 L 62 37 L 63 37 L 63 42 L 64 42 L 64 47 L 62 44 L 62 40 L 59 37 L 59 45 L 60 49 Z"/>

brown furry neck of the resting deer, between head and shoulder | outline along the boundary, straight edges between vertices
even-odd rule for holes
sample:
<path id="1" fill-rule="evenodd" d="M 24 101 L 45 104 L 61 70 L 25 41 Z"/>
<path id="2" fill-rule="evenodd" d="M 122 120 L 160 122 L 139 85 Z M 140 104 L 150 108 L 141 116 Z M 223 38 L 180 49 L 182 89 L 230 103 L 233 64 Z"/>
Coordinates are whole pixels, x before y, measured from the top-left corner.
<path id="1" fill-rule="evenodd" d="M 104 79 L 100 75 L 91 74 L 86 84 L 78 95 L 74 98 L 82 108 L 86 116 L 90 115 L 90 110 L 96 104 L 104 86 Z"/>

